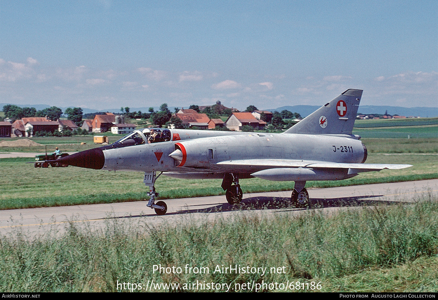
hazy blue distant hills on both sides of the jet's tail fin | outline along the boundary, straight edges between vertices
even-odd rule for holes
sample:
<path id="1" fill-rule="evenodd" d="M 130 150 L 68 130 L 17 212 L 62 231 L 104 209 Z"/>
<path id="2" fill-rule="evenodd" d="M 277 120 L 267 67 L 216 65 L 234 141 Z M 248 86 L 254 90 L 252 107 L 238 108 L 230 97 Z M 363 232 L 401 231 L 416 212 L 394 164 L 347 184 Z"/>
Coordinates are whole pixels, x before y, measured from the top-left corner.
<path id="1" fill-rule="evenodd" d="M 321 106 L 314 105 L 294 105 L 294 106 L 282 106 L 276 109 L 265 109 L 265 111 L 278 111 L 281 112 L 283 110 L 297 112 L 301 115 L 301 117 L 307 117 L 309 114 L 316 111 Z M 399 107 L 399 106 L 377 106 L 377 105 L 360 105 L 359 110 L 357 111 L 360 114 L 385 114 L 385 111 L 388 111 L 388 114 L 394 115 L 398 114 L 400 116 L 414 116 L 414 117 L 423 117 L 423 118 L 431 118 L 438 117 L 438 107 Z"/>

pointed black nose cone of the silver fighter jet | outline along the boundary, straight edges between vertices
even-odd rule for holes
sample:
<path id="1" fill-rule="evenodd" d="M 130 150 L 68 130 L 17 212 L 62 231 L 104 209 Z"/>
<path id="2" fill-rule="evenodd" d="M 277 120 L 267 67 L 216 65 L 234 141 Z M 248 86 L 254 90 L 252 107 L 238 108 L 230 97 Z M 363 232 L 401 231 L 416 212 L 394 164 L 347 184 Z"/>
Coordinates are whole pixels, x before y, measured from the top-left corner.
<path id="1" fill-rule="evenodd" d="M 75 167 L 100 170 L 105 164 L 105 156 L 102 149 L 94 148 L 62 157 L 57 162 Z"/>

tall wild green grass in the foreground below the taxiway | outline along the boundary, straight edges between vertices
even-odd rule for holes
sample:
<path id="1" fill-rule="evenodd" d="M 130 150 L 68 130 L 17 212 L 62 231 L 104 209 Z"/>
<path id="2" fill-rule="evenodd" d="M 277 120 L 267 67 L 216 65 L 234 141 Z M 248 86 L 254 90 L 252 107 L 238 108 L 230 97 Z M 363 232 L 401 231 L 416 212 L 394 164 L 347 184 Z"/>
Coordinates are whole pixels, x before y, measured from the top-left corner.
<path id="1" fill-rule="evenodd" d="M 2 291 L 76 292 L 116 291 L 117 281 L 146 284 L 152 279 L 233 286 L 253 280 L 289 280 L 322 282 L 321 291 L 341 291 L 345 286 L 336 287 L 336 282 L 364 269 L 397 268 L 419 257 L 436 257 L 436 200 L 345 208 L 329 215 L 322 210 L 236 211 L 228 217 L 219 214 L 201 220 L 190 215 L 177 221 L 177 226 L 149 226 L 141 221 L 127 225 L 111 219 L 102 232 L 71 223 L 58 238 L 0 239 L 0 286 Z M 153 274 L 154 264 L 183 270 L 186 264 L 208 267 L 209 273 Z M 286 266 L 286 274 L 213 273 L 216 265 L 230 264 L 268 267 L 268 271 Z M 356 285 L 353 290 L 362 288 Z M 425 290 L 436 288 L 426 284 Z"/>

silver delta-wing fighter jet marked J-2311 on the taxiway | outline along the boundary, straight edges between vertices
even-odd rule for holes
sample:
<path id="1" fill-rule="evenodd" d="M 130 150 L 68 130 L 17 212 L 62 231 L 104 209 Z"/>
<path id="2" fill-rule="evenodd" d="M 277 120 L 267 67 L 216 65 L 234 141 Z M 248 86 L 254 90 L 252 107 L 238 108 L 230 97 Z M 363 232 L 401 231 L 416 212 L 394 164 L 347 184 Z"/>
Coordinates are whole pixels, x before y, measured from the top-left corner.
<path id="1" fill-rule="evenodd" d="M 62 157 L 56 162 L 108 171 L 145 172 L 148 207 L 165 214 L 155 203 L 155 180 L 162 174 L 183 179 L 223 179 L 226 200 L 242 200 L 239 179 L 258 177 L 294 181 L 291 195 L 305 207 L 307 180 L 341 180 L 361 172 L 401 169 L 410 164 L 364 164 L 367 148 L 352 135 L 362 90 L 348 89 L 283 133 L 223 132 L 145 128 L 117 142 Z M 157 172 L 159 175 L 157 176 Z"/>

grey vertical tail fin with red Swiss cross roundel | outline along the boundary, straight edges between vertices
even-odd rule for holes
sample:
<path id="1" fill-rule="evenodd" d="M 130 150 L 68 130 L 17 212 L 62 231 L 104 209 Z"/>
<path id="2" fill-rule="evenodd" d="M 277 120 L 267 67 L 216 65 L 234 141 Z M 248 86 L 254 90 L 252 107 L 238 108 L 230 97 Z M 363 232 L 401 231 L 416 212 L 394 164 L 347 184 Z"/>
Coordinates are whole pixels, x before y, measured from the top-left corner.
<path id="1" fill-rule="evenodd" d="M 284 133 L 351 134 L 362 89 L 347 89 Z"/>

